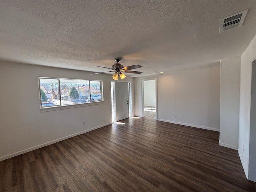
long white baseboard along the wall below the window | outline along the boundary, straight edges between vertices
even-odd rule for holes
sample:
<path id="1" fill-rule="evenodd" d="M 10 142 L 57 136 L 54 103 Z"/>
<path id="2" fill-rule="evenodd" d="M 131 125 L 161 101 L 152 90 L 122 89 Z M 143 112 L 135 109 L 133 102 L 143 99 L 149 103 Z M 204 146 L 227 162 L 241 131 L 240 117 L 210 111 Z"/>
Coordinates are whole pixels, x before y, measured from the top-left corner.
<path id="1" fill-rule="evenodd" d="M 42 147 L 50 145 L 50 144 L 54 144 L 56 142 L 59 142 L 59 141 L 62 141 L 62 140 L 65 140 L 65 139 L 68 139 L 68 138 L 71 138 L 71 137 L 74 137 L 74 136 L 78 136 L 80 134 L 84 134 L 86 132 L 89 132 L 89 131 L 92 131 L 92 130 L 95 130 L 95 129 L 98 129 L 98 128 L 101 128 L 101 127 L 104 127 L 104 126 L 107 126 L 107 125 L 110 125 L 110 124 L 112 124 L 112 123 L 106 123 L 104 125 L 100 125 L 100 126 L 97 126 L 97 127 L 94 127 L 94 128 L 90 128 L 88 130 L 84 130 L 84 131 L 81 131 L 81 132 L 78 132 L 78 133 L 75 133 L 75 134 L 72 134 L 72 135 L 69 135 L 69 136 L 65 136 L 65 137 L 62 137 L 62 138 L 59 138 L 59 139 L 56 139 L 56 140 L 52 140 L 52 141 L 40 144 L 38 146 L 34 146 L 34 147 L 31 147 L 31 148 L 28 148 L 28 149 L 24 149 L 24 150 L 21 150 L 21 151 L 18 151 L 18 152 L 15 152 L 15 153 L 12 153 L 12 154 L 0 157 L 0 161 L 8 159 L 8 158 L 15 157 L 15 156 L 18 156 L 18 155 L 21 155 L 21 154 L 24 154 L 26 152 L 30 152 L 30 151 L 42 148 Z"/>

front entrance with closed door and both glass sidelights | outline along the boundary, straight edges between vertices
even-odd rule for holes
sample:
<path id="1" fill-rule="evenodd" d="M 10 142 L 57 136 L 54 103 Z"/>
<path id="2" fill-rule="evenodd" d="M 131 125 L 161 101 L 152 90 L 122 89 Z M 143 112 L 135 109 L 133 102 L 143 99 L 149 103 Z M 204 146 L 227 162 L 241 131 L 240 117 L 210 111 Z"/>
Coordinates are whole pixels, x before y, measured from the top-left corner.
<path id="1" fill-rule="evenodd" d="M 132 116 L 130 82 L 111 82 L 112 122 Z"/>

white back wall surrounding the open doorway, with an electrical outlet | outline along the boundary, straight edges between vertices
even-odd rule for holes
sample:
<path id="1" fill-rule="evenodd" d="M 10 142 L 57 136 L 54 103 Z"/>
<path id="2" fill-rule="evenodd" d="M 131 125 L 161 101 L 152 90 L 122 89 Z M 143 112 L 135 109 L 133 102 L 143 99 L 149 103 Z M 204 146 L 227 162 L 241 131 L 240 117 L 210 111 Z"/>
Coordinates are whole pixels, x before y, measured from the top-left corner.
<path id="1" fill-rule="evenodd" d="M 141 116 L 142 110 L 141 80 L 143 79 L 146 78 L 135 78 L 134 81 L 137 116 Z M 157 96 L 158 120 L 219 130 L 220 66 L 158 75 Z"/>

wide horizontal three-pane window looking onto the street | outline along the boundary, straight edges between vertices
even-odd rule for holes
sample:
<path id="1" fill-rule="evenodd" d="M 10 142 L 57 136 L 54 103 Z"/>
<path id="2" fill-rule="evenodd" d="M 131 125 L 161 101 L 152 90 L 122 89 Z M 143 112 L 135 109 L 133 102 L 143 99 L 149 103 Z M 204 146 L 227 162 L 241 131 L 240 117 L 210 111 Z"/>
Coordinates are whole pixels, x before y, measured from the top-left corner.
<path id="1" fill-rule="evenodd" d="M 41 108 L 102 101 L 102 81 L 38 78 Z"/>

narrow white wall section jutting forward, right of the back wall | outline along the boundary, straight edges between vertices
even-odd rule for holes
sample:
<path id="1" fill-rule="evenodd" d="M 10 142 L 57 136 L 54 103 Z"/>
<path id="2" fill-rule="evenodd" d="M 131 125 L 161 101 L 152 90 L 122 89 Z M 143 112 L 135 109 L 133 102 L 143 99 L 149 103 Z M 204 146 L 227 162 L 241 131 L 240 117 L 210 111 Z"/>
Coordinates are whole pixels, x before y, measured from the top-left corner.
<path id="1" fill-rule="evenodd" d="M 238 148 L 240 57 L 221 60 L 220 140 L 228 148 Z"/>

